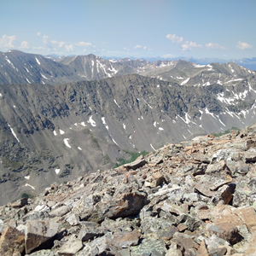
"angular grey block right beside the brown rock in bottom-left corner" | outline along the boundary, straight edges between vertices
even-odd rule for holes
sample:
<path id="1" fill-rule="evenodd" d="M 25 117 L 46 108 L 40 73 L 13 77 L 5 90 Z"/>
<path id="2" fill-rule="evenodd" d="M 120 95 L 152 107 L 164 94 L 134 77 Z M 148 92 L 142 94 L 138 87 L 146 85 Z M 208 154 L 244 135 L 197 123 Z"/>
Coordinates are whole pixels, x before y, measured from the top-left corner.
<path id="1" fill-rule="evenodd" d="M 26 253 L 31 253 L 33 249 L 40 246 L 44 241 L 57 234 L 59 224 L 54 221 L 29 220 L 25 230 Z"/>

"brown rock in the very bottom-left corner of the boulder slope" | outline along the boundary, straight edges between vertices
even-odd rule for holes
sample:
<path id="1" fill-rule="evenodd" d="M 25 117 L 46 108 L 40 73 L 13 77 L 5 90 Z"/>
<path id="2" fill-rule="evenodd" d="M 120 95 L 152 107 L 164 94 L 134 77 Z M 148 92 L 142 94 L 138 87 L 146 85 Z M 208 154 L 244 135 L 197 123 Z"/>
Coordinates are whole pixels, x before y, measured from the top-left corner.
<path id="1" fill-rule="evenodd" d="M 0 255 L 21 255 L 25 247 L 25 236 L 19 230 L 7 227 L 0 238 Z"/>

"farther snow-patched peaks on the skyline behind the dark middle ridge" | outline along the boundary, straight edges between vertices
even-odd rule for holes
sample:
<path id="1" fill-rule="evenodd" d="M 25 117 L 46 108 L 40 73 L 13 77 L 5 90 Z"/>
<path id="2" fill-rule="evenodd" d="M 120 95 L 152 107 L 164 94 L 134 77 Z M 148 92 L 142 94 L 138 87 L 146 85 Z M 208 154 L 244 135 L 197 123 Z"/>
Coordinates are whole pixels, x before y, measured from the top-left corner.
<path id="1" fill-rule="evenodd" d="M 0 84 L 38 83 L 56 85 L 82 80 L 112 78 L 131 73 L 182 84 L 184 80 L 190 79 L 199 71 L 199 73 L 201 71 L 207 72 L 209 69 L 208 64 L 204 64 L 204 66 L 201 66 L 201 64 L 196 66 L 195 64 L 197 63 L 181 60 L 154 62 L 140 59 L 131 60 L 129 58 L 104 60 L 96 55 L 62 56 L 52 60 L 42 55 L 9 50 L 7 53 L 0 53 Z M 236 64 L 226 65 L 234 66 Z M 215 76 L 218 76 L 218 63 L 213 66 Z M 236 67 L 238 68 L 237 65 Z M 226 69 L 225 75 L 231 75 L 233 79 L 244 77 L 241 73 L 238 74 L 239 77 L 236 77 L 236 73 L 232 73 L 231 70 L 233 69 L 228 66 L 224 68 Z M 250 72 L 253 72 L 253 70 L 250 70 Z M 191 84 L 194 80 L 196 79 L 190 79 L 189 83 Z M 226 82 L 224 76 L 222 76 L 221 81 Z M 215 82 L 217 83 L 218 80 L 215 79 Z"/>

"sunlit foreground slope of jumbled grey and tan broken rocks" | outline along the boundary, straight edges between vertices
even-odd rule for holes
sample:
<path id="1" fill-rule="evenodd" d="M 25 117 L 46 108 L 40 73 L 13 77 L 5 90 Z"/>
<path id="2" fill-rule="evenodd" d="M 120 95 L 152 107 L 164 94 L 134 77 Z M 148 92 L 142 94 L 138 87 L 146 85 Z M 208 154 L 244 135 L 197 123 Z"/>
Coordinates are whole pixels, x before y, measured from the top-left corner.
<path id="1" fill-rule="evenodd" d="M 255 255 L 256 125 L 0 208 L 0 254 Z"/>

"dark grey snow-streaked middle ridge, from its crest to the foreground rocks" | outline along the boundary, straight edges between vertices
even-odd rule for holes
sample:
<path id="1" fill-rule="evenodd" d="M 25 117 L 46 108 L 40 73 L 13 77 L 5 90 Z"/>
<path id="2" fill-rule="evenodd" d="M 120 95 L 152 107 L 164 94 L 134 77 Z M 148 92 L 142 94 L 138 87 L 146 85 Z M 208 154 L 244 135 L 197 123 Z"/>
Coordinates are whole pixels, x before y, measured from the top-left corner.
<path id="1" fill-rule="evenodd" d="M 2 203 L 28 189 L 113 166 L 255 120 L 255 76 L 184 86 L 137 74 L 51 86 L 0 86 Z M 127 153 L 128 152 L 128 153 Z"/>

